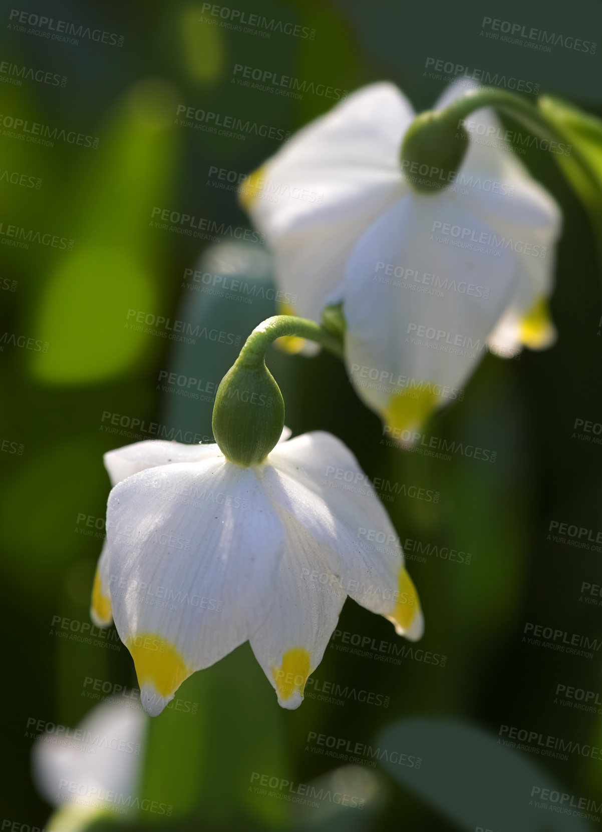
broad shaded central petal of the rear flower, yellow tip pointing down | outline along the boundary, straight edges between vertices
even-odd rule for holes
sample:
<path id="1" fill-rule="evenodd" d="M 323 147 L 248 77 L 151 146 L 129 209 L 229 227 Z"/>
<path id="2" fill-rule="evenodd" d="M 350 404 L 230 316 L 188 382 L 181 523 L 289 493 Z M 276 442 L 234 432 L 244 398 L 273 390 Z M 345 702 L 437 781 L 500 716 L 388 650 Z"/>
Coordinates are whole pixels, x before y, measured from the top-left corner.
<path id="1" fill-rule="evenodd" d="M 443 233 L 447 226 L 453 234 Z M 480 245 L 491 233 L 445 191 L 412 194 L 387 210 L 351 255 L 347 368 L 357 393 L 395 428 L 413 430 L 432 409 L 460 396 L 510 302 L 515 258 L 502 247 Z M 400 266 L 401 278 L 387 277 L 379 262 Z M 429 280 L 447 287 L 444 297 L 422 282 Z M 470 285 L 480 286 L 479 295 L 469 294 Z"/>

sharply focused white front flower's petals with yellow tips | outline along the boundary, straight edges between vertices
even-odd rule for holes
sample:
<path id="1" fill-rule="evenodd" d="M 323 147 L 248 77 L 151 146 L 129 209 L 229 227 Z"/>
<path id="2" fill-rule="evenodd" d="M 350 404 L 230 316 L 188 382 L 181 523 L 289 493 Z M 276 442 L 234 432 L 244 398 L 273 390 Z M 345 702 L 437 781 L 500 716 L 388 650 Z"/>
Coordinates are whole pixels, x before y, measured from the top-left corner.
<path id="1" fill-rule="evenodd" d="M 347 595 L 420 638 L 391 520 L 330 433 L 281 440 L 249 467 L 216 445 L 153 440 L 105 460 L 121 482 L 93 615 L 107 622 L 112 611 L 152 716 L 187 676 L 247 640 L 281 706 L 298 707 Z"/>

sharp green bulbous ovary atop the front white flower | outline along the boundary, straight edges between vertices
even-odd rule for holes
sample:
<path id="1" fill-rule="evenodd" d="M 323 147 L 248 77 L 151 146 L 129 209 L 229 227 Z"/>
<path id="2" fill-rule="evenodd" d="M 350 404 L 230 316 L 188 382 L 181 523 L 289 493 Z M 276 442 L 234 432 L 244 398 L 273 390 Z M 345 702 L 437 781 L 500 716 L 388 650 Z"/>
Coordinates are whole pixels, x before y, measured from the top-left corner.
<path id="1" fill-rule="evenodd" d="M 231 463 L 258 465 L 274 448 L 284 427 L 284 400 L 262 358 L 239 356 L 221 379 L 212 427 Z"/>

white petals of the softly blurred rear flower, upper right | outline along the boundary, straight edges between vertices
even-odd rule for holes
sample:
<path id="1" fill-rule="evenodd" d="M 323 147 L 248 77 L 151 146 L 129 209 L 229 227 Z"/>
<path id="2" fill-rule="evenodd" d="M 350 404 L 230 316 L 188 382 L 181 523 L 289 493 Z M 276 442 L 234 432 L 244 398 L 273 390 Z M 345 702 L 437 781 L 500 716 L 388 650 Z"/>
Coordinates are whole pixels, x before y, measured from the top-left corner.
<path id="1" fill-rule="evenodd" d="M 464 90 L 448 89 L 439 108 Z M 241 186 L 278 288 L 298 299 L 282 311 L 319 319 L 323 306 L 343 304 L 356 391 L 398 434 L 460 399 L 485 349 L 509 356 L 555 337 L 546 303 L 555 202 L 486 109 L 467 120 L 455 182 L 415 191 L 400 152 L 414 117 L 392 84 L 364 87 Z"/>

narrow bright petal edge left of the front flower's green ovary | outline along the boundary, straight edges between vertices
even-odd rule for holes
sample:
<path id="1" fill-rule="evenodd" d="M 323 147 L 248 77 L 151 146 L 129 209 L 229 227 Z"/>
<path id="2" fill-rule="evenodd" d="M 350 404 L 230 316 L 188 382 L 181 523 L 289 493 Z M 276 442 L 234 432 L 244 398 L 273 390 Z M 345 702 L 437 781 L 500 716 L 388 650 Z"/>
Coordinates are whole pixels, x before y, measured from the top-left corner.
<path id="1" fill-rule="evenodd" d="M 216 443 L 187 445 L 182 442 L 166 442 L 163 439 L 145 439 L 132 445 L 124 445 L 107 451 L 104 455 L 105 468 L 112 485 L 133 473 L 171 463 L 199 463 L 203 459 L 223 456 Z"/>

